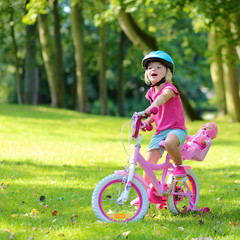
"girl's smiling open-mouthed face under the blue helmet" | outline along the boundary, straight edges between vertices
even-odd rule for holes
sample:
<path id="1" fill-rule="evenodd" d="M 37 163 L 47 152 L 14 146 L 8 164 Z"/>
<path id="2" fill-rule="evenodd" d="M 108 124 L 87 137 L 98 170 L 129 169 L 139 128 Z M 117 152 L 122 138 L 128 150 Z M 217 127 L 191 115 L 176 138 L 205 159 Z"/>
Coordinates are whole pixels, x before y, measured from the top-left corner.
<path id="1" fill-rule="evenodd" d="M 160 62 L 151 62 L 147 67 L 147 76 L 152 84 L 158 83 L 166 75 L 166 67 Z"/>

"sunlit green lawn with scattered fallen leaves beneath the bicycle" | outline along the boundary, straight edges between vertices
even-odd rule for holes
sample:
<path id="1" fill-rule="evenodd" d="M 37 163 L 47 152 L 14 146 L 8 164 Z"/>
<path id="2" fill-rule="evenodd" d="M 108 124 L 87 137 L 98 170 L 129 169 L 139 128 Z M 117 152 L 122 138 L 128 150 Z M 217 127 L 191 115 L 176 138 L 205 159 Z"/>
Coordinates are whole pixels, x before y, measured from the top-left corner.
<path id="1" fill-rule="evenodd" d="M 96 219 L 94 187 L 127 163 L 121 127 L 128 120 L 0 105 L 0 239 L 125 239 L 128 231 L 128 239 L 239 239 L 240 124 L 227 118 L 216 120 L 219 134 L 206 159 L 185 162 L 200 182 L 198 207 L 210 214 L 173 216 L 151 206 L 137 223 Z M 189 133 L 202 124 L 188 122 Z M 143 155 L 150 137 L 144 134 Z"/>

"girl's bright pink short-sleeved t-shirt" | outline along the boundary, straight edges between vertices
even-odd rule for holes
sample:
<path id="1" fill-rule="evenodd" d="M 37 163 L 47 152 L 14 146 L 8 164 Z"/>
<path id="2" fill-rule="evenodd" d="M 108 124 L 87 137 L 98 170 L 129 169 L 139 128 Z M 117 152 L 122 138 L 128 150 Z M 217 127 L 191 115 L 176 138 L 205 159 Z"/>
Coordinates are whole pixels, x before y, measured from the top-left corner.
<path id="1" fill-rule="evenodd" d="M 157 135 L 159 132 L 169 128 L 182 130 L 186 129 L 182 101 L 178 90 L 171 83 L 167 82 L 157 93 L 155 93 L 154 87 L 151 87 L 145 97 L 152 103 L 163 93 L 165 89 L 172 89 L 176 93 L 176 96 L 170 98 L 163 105 L 160 105 L 158 107 L 158 113 L 153 115 L 153 119 L 156 124 L 156 132 L 154 135 Z"/>

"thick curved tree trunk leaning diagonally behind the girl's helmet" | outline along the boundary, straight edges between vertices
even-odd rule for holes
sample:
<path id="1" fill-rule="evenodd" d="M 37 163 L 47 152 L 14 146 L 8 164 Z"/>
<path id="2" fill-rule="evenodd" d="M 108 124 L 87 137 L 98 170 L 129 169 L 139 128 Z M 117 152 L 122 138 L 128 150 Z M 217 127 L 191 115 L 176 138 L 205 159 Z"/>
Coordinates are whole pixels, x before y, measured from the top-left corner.
<path id="1" fill-rule="evenodd" d="M 140 29 L 139 26 L 134 21 L 134 19 L 132 18 L 131 14 L 124 12 L 124 9 L 121 9 L 119 12 L 118 22 L 122 30 L 128 36 L 128 38 L 133 42 L 134 45 L 136 45 L 136 47 L 141 49 L 144 54 L 158 49 L 155 38 L 149 36 L 142 29 Z M 175 85 L 176 85 L 176 82 L 175 82 Z M 183 107 L 188 118 L 190 120 L 201 120 L 201 117 L 192 108 L 186 96 L 183 94 L 183 92 L 179 87 L 178 87 L 178 91 L 181 95 Z"/>

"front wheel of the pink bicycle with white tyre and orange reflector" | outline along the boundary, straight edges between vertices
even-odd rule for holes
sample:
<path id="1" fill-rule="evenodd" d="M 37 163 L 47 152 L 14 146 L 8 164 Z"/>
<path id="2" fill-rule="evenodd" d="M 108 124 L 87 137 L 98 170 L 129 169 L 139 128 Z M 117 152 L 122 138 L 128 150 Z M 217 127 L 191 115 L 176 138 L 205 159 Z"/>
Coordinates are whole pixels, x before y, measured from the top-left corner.
<path id="1" fill-rule="evenodd" d="M 117 203 L 126 185 L 126 177 L 112 174 L 102 179 L 93 191 L 92 208 L 97 218 L 104 222 L 129 222 L 143 219 L 149 207 L 144 186 L 133 179 L 126 202 Z M 132 206 L 132 200 L 139 198 L 139 206 Z"/>

